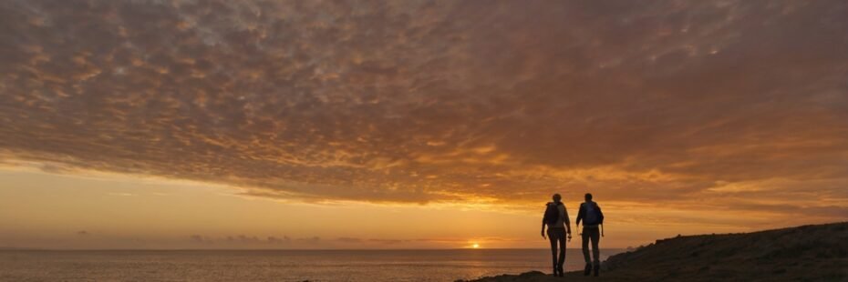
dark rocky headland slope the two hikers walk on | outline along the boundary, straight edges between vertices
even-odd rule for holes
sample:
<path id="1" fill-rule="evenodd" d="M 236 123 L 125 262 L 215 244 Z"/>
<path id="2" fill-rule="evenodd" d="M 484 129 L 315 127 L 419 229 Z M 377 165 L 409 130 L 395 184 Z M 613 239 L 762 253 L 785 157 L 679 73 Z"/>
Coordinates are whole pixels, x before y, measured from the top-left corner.
<path id="1" fill-rule="evenodd" d="M 533 271 L 472 281 L 848 281 L 848 223 L 657 240 L 601 269 L 600 277 Z"/>

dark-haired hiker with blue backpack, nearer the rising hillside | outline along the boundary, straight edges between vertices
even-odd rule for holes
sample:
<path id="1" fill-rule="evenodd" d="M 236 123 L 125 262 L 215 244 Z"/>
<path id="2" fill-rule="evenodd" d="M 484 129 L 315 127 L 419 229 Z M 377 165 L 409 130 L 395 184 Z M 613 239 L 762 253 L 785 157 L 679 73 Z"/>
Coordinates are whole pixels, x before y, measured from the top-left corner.
<path id="1" fill-rule="evenodd" d="M 585 202 L 580 204 L 580 210 L 577 212 L 576 227 L 580 227 L 580 221 L 583 220 L 583 257 L 586 261 L 583 275 L 588 276 L 595 269 L 595 276 L 601 268 L 601 251 L 598 248 L 598 240 L 601 239 L 604 233 L 604 213 L 601 212 L 601 206 L 592 201 L 592 194 L 586 193 L 584 196 Z M 598 230 L 600 227 L 600 231 Z M 592 255 L 595 260 L 589 258 L 589 241 L 592 242 Z"/>

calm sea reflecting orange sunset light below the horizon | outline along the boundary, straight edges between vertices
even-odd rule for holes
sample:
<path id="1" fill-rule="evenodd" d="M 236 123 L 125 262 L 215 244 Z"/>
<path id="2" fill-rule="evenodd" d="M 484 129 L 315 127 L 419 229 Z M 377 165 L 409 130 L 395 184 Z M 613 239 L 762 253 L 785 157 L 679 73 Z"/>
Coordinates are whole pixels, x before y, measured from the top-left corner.
<path id="1" fill-rule="evenodd" d="M 454 281 L 550 264 L 546 249 L 4 250 L 0 281 Z M 568 249 L 565 267 L 582 269 L 583 253 Z"/>

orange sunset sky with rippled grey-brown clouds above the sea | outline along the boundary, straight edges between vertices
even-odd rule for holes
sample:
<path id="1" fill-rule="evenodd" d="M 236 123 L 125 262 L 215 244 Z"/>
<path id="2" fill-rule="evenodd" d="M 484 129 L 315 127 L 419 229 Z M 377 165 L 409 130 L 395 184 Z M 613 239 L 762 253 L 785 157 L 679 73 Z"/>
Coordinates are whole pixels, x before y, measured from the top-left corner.
<path id="1" fill-rule="evenodd" d="M 546 247 L 553 193 L 605 247 L 846 221 L 844 15 L 2 1 L 0 247 Z"/>

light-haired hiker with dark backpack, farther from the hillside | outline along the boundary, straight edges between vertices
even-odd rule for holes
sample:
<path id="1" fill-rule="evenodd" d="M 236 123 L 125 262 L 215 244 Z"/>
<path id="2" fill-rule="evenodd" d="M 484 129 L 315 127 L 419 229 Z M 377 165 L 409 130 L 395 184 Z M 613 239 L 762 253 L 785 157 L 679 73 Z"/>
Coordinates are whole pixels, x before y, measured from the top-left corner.
<path id="1" fill-rule="evenodd" d="M 571 241 L 571 221 L 568 219 L 568 211 L 563 204 L 562 196 L 553 194 L 553 202 L 549 202 L 544 210 L 542 218 L 542 237 L 544 227 L 548 227 L 548 238 L 551 240 L 551 257 L 553 257 L 553 276 L 563 277 L 565 264 L 565 238 Z M 559 257 L 556 255 L 557 243 L 559 243 Z"/>

